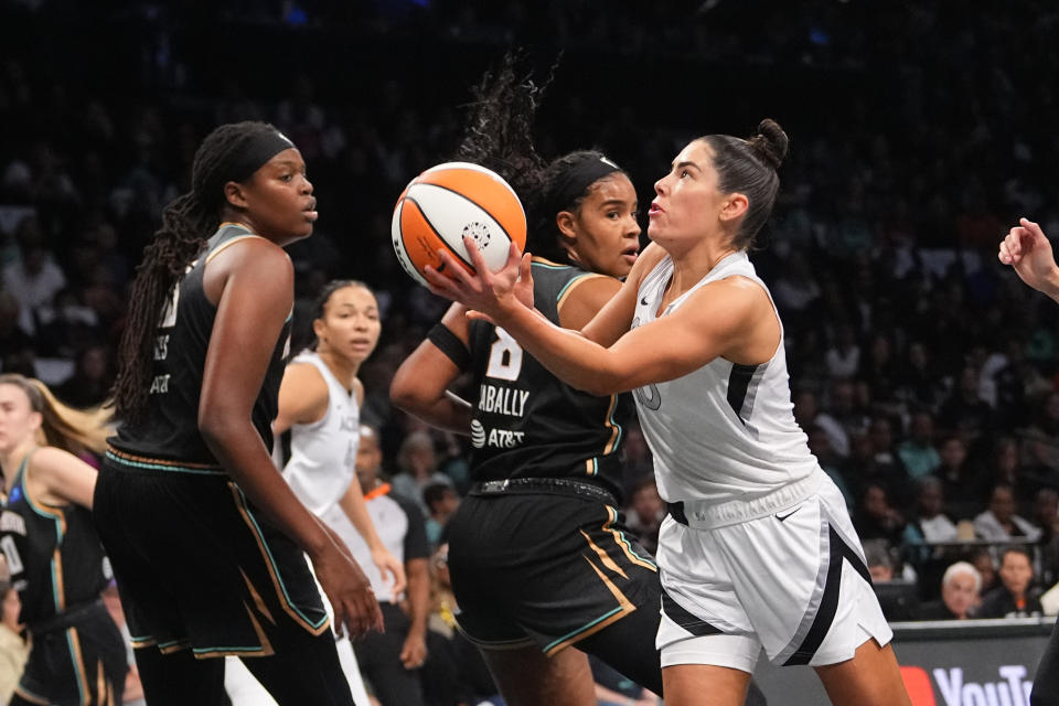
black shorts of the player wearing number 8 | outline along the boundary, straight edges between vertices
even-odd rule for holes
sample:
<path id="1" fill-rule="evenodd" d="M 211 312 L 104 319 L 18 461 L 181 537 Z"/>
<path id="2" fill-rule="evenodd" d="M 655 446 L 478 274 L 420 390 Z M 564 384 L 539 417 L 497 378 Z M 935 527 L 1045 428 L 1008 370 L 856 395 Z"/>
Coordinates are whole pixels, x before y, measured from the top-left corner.
<path id="1" fill-rule="evenodd" d="M 458 621 L 482 648 L 537 644 L 552 655 L 635 610 L 660 609 L 654 559 L 611 505 L 471 494 L 449 523 Z"/>

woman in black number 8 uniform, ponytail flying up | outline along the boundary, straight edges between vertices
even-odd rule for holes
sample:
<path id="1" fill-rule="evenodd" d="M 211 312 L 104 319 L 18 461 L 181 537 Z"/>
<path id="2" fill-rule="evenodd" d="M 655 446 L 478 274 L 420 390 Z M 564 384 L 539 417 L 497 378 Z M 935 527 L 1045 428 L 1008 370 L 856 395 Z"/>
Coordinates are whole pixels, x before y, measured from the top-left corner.
<path id="1" fill-rule="evenodd" d="M 537 92 L 512 62 L 478 94 L 457 159 L 512 182 L 544 255 L 532 266 L 535 304 L 580 327 L 637 259 L 632 182 L 597 151 L 545 164 L 531 139 Z M 464 312 L 449 309 L 391 387 L 397 406 L 471 436 L 474 485 L 448 526 L 461 630 L 512 706 L 595 704 L 586 652 L 661 693 L 657 569 L 618 514 L 630 395 L 577 392 Z M 447 392 L 466 371 L 474 405 Z"/>

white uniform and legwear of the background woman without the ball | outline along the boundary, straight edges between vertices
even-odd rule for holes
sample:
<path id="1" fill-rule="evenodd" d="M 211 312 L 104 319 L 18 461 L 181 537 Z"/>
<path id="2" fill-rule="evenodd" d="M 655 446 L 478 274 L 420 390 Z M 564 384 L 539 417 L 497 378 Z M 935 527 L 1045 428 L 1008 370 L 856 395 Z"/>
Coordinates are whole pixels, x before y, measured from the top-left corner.
<path id="1" fill-rule="evenodd" d="M 328 410 L 319 421 L 291 426 L 290 460 L 284 467 L 282 474 L 298 500 L 318 517 L 335 511 L 341 513 L 339 500 L 353 482 L 356 448 L 361 440 L 356 394 L 339 382 L 314 351 L 300 353 L 291 363 L 306 363 L 320 372 L 328 384 Z M 334 611 L 322 589 L 320 596 L 333 621 Z M 357 706 L 367 704 L 364 680 L 349 638 L 338 639 L 334 646 L 342 671 L 350 682 L 354 703 Z M 224 685 L 233 706 L 272 706 L 276 703 L 236 657 L 227 657 Z"/>

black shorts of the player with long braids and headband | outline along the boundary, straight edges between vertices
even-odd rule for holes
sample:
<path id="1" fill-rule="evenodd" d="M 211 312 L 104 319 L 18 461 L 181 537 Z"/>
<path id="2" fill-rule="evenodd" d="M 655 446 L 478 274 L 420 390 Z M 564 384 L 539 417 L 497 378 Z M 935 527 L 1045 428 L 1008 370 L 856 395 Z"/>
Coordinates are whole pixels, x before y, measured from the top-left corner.
<path id="1" fill-rule="evenodd" d="M 108 454 L 93 513 L 135 648 L 267 656 L 330 627 L 301 549 L 227 475 Z"/>

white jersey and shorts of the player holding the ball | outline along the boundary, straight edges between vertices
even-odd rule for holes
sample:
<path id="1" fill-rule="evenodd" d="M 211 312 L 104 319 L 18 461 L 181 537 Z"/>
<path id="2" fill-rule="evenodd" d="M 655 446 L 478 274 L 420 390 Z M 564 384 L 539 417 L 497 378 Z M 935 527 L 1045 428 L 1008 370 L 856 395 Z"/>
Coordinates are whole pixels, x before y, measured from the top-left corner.
<path id="1" fill-rule="evenodd" d="M 666 256 L 644 279 L 633 327 L 656 318 L 672 274 Z M 768 292 L 738 253 L 661 315 L 731 276 Z M 868 638 L 889 642 L 842 494 L 794 421 L 782 329 L 764 364 L 718 357 L 635 398 L 659 492 L 686 521 L 667 516 L 659 538 L 663 666 L 752 672 L 762 646 L 777 664 L 816 666 L 851 659 Z"/>

